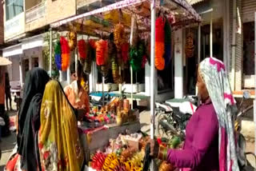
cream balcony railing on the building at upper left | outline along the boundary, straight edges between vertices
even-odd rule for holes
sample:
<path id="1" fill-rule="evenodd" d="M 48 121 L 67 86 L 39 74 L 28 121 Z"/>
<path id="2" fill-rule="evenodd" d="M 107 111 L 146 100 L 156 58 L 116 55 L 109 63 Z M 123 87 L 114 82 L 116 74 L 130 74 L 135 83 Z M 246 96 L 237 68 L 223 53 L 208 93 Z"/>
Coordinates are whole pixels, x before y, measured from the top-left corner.
<path id="1" fill-rule="evenodd" d="M 26 23 L 33 22 L 38 18 L 44 17 L 46 14 L 46 2 L 39 3 L 29 10 L 26 10 Z"/>

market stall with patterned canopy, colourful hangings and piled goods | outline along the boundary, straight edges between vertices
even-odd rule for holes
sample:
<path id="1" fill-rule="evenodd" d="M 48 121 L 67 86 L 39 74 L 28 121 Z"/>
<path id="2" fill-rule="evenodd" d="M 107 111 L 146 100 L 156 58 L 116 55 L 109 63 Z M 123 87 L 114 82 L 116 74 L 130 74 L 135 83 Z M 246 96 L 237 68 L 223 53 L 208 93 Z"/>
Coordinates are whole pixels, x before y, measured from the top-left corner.
<path id="1" fill-rule="evenodd" d="M 99 9 L 93 9 L 85 14 L 51 24 L 50 27 L 53 30 L 69 31 L 68 40 L 61 38 L 59 46 L 55 46 L 55 61 L 57 59 L 57 63 L 59 63 L 59 70 L 66 70 L 70 60 L 70 50 L 74 51 L 76 54 L 75 61 L 81 62 L 83 71 L 90 74 L 90 64 L 94 55 L 98 70 L 103 75 L 102 82 L 104 83 L 107 75 L 106 71 L 110 67 L 114 82 L 117 84 L 122 84 L 122 68 L 126 66 L 126 63 L 129 63 L 131 85 L 133 85 L 134 77 L 132 71 L 141 70 L 143 63 L 145 65 L 146 61 L 150 61 L 150 137 L 154 138 L 155 69 L 163 70 L 166 62 L 170 61 L 170 42 L 172 41 L 170 34 L 183 26 L 200 21 L 200 16 L 186 0 L 153 0 L 152 2 L 147 0 L 123 0 L 115 2 Z M 93 36 L 98 39 L 80 39 L 77 43 L 77 34 Z M 102 96 L 104 97 L 104 91 L 102 91 Z M 131 101 L 133 101 L 133 96 L 134 94 L 131 90 Z M 92 117 L 90 119 L 94 120 L 94 124 L 102 121 L 102 125 L 94 126 L 95 128 L 97 127 L 96 133 L 94 131 L 88 132 L 81 126 L 83 132 L 86 132 L 83 144 L 86 145 L 86 141 L 89 143 L 84 147 L 86 152 L 89 150 L 89 153 L 93 153 L 95 149 L 102 149 L 108 144 L 109 139 L 118 137 L 118 133 L 123 133 L 123 129 L 128 128 L 131 133 L 138 131 L 138 114 L 133 109 L 133 103 L 128 101 L 126 101 L 126 105 L 124 103 L 125 100 L 121 97 L 121 99 L 118 98 L 116 103 L 105 105 L 103 98 L 101 111 L 98 113 L 97 108 L 92 109 L 92 113 L 88 117 Z M 111 109 L 112 106 L 115 107 L 114 110 Z M 112 124 L 112 120 L 118 126 L 104 125 L 104 123 Z M 89 134 L 90 136 L 88 137 Z M 137 134 L 135 136 L 137 139 L 133 140 L 134 144 L 121 145 L 121 149 L 126 151 L 130 157 L 135 152 L 138 158 L 141 159 L 142 156 L 139 151 L 143 151 L 142 148 L 130 149 L 134 145 L 139 146 L 139 141 L 146 138 L 139 136 L 141 135 Z M 101 144 L 98 143 L 98 137 L 104 139 Z M 114 149 L 114 146 L 111 147 Z M 132 150 L 134 150 L 133 153 L 130 152 Z M 124 157 L 122 162 L 121 159 L 121 161 L 118 159 L 121 152 L 110 150 L 108 155 L 106 153 L 107 150 L 104 153 L 94 154 L 96 158 L 97 155 L 101 158 L 103 157 L 101 159 L 102 163 L 98 164 L 101 166 L 100 169 L 108 170 L 107 167 L 109 165 L 105 166 L 104 169 L 103 165 L 107 165 L 104 162 L 116 161 L 109 163 L 110 165 L 113 163 L 113 170 L 131 170 L 127 169 L 128 165 L 126 165 L 126 161 L 130 158 L 128 157 L 129 155 Z M 92 158 L 92 161 L 94 161 L 94 158 Z M 139 168 L 142 165 L 141 161 L 138 161 L 138 165 L 134 167 L 140 170 Z M 134 163 L 136 162 L 134 161 Z M 121 169 L 123 165 L 126 165 L 126 169 Z M 164 163 L 161 165 L 164 165 Z M 98 168 L 98 170 L 100 169 Z M 151 169 L 154 169 L 153 165 Z"/>

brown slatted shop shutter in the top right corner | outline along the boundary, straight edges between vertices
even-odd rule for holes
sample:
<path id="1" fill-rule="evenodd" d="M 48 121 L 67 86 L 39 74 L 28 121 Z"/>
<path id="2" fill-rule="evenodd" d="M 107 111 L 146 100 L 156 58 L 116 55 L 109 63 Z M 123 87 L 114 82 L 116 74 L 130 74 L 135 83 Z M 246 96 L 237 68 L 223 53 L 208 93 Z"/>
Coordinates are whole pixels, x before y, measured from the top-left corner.
<path id="1" fill-rule="evenodd" d="M 256 0 L 242 0 L 242 22 L 254 22 Z"/>

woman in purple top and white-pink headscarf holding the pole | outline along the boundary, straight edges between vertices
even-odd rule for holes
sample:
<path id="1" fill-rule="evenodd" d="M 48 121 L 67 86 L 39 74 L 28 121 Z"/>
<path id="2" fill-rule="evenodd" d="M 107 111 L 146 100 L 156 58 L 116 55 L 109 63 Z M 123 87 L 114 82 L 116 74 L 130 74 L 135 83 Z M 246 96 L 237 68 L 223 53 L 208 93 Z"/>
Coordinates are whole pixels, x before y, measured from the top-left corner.
<path id="1" fill-rule="evenodd" d="M 234 141 L 235 101 L 224 64 L 206 58 L 198 68 L 198 96 L 202 104 L 186 126 L 184 148 L 166 149 L 151 141 L 151 156 L 185 170 L 237 171 Z"/>

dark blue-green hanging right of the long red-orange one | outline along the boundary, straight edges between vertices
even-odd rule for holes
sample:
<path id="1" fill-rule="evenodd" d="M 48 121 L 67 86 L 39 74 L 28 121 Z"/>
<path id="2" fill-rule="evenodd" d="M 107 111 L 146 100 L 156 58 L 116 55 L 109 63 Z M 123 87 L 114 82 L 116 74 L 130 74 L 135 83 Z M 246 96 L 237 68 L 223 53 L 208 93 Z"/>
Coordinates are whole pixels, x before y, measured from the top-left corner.
<path id="1" fill-rule="evenodd" d="M 166 19 L 165 24 L 165 68 L 167 68 L 170 64 L 171 59 L 171 28 L 170 28 L 170 22 Z"/>

